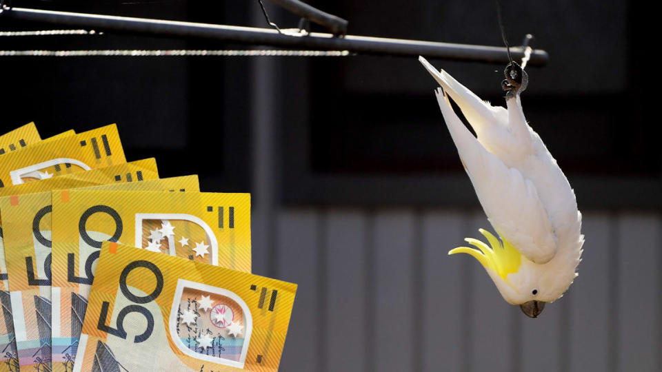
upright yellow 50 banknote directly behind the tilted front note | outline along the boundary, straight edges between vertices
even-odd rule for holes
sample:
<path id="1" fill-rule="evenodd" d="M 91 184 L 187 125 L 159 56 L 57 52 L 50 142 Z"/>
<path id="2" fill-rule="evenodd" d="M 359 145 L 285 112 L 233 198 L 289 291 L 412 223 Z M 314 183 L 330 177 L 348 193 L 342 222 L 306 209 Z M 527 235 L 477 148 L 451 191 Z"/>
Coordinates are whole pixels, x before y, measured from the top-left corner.
<path id="1" fill-rule="evenodd" d="M 53 295 L 70 324 L 59 336 L 72 359 L 104 240 L 250 272 L 249 194 L 58 191 L 53 231 Z"/>

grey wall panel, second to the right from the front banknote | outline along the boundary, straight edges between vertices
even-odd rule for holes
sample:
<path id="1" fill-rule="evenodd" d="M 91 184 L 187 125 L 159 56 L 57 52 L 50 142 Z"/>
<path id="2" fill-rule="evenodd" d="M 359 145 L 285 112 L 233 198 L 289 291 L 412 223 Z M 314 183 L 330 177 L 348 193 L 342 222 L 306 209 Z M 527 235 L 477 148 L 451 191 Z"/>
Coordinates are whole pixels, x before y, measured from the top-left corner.
<path id="1" fill-rule="evenodd" d="M 360 371 L 367 366 L 365 214 L 359 209 L 330 211 L 326 218 L 325 371 Z"/>

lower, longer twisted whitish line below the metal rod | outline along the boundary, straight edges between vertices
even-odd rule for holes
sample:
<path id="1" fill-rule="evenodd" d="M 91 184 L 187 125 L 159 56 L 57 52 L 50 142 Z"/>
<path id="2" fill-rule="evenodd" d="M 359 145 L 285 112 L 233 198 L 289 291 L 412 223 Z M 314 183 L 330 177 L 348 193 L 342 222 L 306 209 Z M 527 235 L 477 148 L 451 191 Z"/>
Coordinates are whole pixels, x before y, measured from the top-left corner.
<path id="1" fill-rule="evenodd" d="M 347 50 L 0 50 L 0 56 L 349 56 Z"/>

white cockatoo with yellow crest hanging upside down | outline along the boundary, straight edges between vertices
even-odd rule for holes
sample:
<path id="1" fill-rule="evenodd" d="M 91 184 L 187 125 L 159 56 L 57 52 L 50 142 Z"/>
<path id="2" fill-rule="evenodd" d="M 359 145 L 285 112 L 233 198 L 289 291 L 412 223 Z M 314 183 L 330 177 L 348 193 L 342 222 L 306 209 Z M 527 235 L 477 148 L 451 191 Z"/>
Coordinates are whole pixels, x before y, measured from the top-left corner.
<path id="1" fill-rule="evenodd" d="M 501 238 L 480 229 L 489 246 L 466 238 L 478 249 L 458 247 L 448 254 L 476 258 L 503 299 L 536 318 L 545 303 L 561 298 L 578 275 L 584 237 L 568 179 L 524 118 L 520 93 L 528 76 L 516 63 L 508 65 L 502 83 L 505 109 L 482 101 L 423 57 L 419 61 L 441 85 L 436 90 L 441 113 L 483 210 Z M 455 114 L 449 96 L 476 136 Z"/>

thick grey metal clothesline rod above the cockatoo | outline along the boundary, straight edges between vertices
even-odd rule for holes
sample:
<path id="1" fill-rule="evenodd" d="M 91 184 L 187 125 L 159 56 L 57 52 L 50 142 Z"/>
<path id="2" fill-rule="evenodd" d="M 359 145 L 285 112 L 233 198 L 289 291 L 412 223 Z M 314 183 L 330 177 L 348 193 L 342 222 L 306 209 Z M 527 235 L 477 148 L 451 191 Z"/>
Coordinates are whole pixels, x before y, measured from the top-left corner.
<path id="1" fill-rule="evenodd" d="M 438 43 L 405 39 L 386 39 L 311 32 L 305 35 L 279 34 L 268 28 L 252 28 L 233 25 L 212 25 L 161 19 L 117 17 L 102 14 L 56 12 L 28 8 L 4 6 L 0 17 L 21 21 L 37 21 L 54 25 L 68 25 L 77 28 L 91 28 L 97 31 L 144 34 L 160 37 L 183 37 L 213 39 L 233 43 L 269 45 L 280 48 L 308 50 L 347 50 L 359 54 L 382 54 L 391 56 L 426 56 L 432 59 L 456 61 L 479 61 L 488 63 L 508 63 L 508 54 L 503 47 Z M 513 58 L 521 59 L 521 47 L 510 48 Z M 528 64 L 545 65 L 549 59 L 544 50 L 532 50 Z"/>

